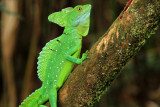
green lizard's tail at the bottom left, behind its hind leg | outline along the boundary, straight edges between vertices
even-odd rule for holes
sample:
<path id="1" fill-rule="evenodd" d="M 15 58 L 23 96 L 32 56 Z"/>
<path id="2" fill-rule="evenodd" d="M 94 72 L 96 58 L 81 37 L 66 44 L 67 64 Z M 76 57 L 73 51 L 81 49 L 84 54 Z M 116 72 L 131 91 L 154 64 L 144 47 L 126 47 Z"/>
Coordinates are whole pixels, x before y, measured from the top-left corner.
<path id="1" fill-rule="evenodd" d="M 29 97 L 27 97 L 19 107 L 39 107 L 45 101 L 47 101 L 47 97 L 42 97 L 45 95 L 42 91 L 42 87 L 33 92 Z"/>

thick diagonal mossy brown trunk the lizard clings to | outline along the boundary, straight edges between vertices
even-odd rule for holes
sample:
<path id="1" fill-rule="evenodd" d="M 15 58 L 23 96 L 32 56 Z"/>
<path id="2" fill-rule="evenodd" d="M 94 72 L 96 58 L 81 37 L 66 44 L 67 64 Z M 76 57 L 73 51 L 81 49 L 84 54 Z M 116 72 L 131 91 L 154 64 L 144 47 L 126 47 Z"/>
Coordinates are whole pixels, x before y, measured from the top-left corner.
<path id="1" fill-rule="evenodd" d="M 91 48 L 89 59 L 70 74 L 59 91 L 62 107 L 91 106 L 100 99 L 160 23 L 160 0 L 131 0 Z"/>

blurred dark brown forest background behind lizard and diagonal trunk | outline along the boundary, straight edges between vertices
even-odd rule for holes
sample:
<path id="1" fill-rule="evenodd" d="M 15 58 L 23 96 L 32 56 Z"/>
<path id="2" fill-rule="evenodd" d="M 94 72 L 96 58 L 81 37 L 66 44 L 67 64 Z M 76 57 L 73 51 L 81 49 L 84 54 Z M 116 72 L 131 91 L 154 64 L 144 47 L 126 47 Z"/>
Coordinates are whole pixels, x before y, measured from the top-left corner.
<path id="1" fill-rule="evenodd" d="M 63 28 L 48 15 L 65 7 L 92 4 L 90 32 L 82 52 L 102 36 L 127 0 L 0 0 L 0 107 L 16 107 L 41 86 L 37 57 Z M 160 106 L 160 29 L 130 60 L 95 107 Z"/>

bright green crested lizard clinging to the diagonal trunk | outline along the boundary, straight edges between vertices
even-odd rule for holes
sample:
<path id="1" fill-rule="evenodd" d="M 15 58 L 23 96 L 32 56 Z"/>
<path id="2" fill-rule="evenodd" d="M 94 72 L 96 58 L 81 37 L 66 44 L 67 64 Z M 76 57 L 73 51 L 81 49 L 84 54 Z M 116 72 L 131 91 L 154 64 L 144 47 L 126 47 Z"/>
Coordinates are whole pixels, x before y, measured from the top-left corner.
<path id="1" fill-rule="evenodd" d="M 49 41 L 38 57 L 38 76 L 42 86 L 20 107 L 38 107 L 49 100 L 51 107 L 57 107 L 57 91 L 70 74 L 74 63 L 82 64 L 88 51 L 79 59 L 82 36 L 86 36 L 90 25 L 91 5 L 68 7 L 49 15 L 48 20 L 65 27 L 63 34 Z"/>

